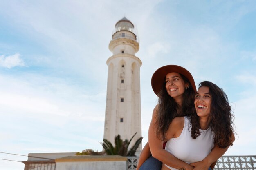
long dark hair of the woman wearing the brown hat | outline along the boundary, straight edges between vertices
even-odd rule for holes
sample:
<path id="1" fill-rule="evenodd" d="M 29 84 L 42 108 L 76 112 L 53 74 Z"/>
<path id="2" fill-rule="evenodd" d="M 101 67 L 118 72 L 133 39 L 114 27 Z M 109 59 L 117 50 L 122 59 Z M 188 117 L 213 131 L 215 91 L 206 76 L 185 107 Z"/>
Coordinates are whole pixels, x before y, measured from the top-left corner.
<path id="1" fill-rule="evenodd" d="M 169 125 L 173 121 L 175 117 L 180 116 L 189 116 L 195 110 L 194 106 L 194 98 L 195 98 L 195 91 L 192 88 L 191 83 L 189 80 L 182 74 L 180 74 L 183 81 L 189 83 L 189 88 L 185 90 L 183 93 L 183 102 L 182 106 L 180 107 L 173 97 L 168 95 L 165 85 L 165 79 L 163 80 L 163 86 L 161 91 L 158 93 L 158 107 L 157 107 L 157 114 L 156 114 L 156 136 L 158 139 L 162 141 L 166 141 L 166 132 L 169 128 Z M 195 111 L 194 111 L 195 112 Z"/>

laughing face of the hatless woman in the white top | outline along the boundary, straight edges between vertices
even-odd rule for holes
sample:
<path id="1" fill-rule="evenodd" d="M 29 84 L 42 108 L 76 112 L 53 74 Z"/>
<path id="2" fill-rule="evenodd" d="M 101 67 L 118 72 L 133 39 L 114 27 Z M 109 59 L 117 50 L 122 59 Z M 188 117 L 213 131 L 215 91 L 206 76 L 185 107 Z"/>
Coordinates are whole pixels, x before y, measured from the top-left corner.
<path id="1" fill-rule="evenodd" d="M 209 118 L 211 113 L 211 95 L 209 87 L 202 86 L 195 95 L 195 110 L 199 117 Z"/>

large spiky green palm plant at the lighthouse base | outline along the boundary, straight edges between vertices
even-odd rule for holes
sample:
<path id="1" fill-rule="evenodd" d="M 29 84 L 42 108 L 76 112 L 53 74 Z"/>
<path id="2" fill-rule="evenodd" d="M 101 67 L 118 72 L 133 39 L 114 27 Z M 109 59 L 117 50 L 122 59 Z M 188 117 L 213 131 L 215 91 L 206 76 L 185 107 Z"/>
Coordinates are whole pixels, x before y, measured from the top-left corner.
<path id="1" fill-rule="evenodd" d="M 121 139 L 120 135 L 115 136 L 115 147 L 107 139 L 103 139 L 101 145 L 103 146 L 107 155 L 135 156 L 135 152 L 143 137 L 139 137 L 129 151 L 128 147 L 136 134 L 137 133 L 135 133 L 130 140 L 125 139 L 124 141 Z"/>

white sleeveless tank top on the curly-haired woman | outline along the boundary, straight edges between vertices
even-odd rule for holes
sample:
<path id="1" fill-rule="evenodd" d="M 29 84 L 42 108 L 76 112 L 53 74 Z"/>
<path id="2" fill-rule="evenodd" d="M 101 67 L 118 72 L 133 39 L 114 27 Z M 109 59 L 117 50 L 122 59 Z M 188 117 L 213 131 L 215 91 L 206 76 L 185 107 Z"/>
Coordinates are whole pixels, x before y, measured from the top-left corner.
<path id="1" fill-rule="evenodd" d="M 209 155 L 214 146 L 213 132 L 211 128 L 207 130 L 200 129 L 200 136 L 192 139 L 190 118 L 184 117 L 184 121 L 184 127 L 180 136 L 167 141 L 165 150 L 186 163 L 202 161 Z M 178 170 L 170 166 L 167 167 L 171 170 Z"/>

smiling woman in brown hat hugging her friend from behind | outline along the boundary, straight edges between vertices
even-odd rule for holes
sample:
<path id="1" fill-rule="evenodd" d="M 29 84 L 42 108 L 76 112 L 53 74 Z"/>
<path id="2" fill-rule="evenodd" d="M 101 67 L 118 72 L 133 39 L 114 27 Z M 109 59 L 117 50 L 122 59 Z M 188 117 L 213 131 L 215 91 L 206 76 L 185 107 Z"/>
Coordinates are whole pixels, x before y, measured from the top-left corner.
<path id="1" fill-rule="evenodd" d="M 191 115 L 191 110 L 195 107 L 196 86 L 194 79 L 185 68 L 167 65 L 155 71 L 151 85 L 159 100 L 158 105 L 153 110 L 148 130 L 148 143 L 139 156 L 137 170 L 160 170 L 162 162 L 169 166 L 173 166 L 175 163 L 175 167 L 186 168 L 186 170 L 193 169 L 193 166 L 175 158 L 164 150 L 163 141 L 166 140 L 162 137 L 165 136 L 175 117 Z M 194 164 L 195 169 L 207 170 L 226 150 L 215 147 L 203 161 Z M 151 153 L 153 157 L 150 157 Z"/>

